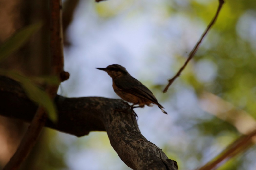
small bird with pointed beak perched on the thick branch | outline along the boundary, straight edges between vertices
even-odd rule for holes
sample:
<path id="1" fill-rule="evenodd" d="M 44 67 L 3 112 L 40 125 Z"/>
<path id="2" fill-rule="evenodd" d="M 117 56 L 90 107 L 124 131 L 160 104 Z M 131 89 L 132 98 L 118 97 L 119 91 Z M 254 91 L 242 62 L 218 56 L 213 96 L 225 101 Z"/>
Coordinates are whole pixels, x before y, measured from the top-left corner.
<path id="1" fill-rule="evenodd" d="M 107 72 L 113 80 L 113 89 L 115 93 L 123 100 L 133 103 L 131 108 L 151 106 L 151 103 L 156 104 L 163 113 L 167 114 L 164 107 L 158 103 L 153 93 L 144 86 L 140 81 L 133 78 L 126 69 L 119 64 L 112 64 L 106 68 L 96 68 Z"/>

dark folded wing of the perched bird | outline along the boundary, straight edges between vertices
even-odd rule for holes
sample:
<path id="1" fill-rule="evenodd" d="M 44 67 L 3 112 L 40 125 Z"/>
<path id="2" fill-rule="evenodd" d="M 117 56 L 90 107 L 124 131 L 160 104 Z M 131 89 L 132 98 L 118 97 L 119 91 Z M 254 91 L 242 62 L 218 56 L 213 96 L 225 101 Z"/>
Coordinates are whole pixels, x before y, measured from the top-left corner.
<path id="1" fill-rule="evenodd" d="M 118 87 L 120 90 L 126 93 L 133 94 L 137 97 L 147 99 L 159 106 L 160 108 L 164 108 L 161 104 L 158 103 L 157 99 L 150 91 L 150 89 L 148 89 L 140 81 L 134 79 L 133 77 L 129 77 L 128 79 L 125 77 L 120 77 L 119 79 L 115 79 L 114 83 L 116 87 Z"/>

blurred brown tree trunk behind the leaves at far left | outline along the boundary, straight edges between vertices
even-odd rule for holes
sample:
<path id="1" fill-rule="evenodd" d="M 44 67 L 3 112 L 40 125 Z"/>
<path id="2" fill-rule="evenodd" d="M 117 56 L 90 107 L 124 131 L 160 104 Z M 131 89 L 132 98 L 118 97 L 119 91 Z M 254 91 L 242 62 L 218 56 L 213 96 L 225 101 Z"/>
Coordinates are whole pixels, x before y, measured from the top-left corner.
<path id="1" fill-rule="evenodd" d="M 38 76 L 49 72 L 49 17 L 47 1 L 1 0 L 0 5 L 0 44 L 18 29 L 38 22 L 44 27 L 31 41 L 17 52 L 0 63 L 0 69 L 16 70 L 26 75 Z M 0 117 L 0 168 L 14 154 L 28 124 L 7 117 Z M 36 149 L 35 149 L 36 150 Z M 33 151 L 32 153 L 35 153 Z M 30 156 L 29 164 L 24 169 L 31 169 L 34 156 Z M 33 168 L 32 168 L 33 169 Z"/>

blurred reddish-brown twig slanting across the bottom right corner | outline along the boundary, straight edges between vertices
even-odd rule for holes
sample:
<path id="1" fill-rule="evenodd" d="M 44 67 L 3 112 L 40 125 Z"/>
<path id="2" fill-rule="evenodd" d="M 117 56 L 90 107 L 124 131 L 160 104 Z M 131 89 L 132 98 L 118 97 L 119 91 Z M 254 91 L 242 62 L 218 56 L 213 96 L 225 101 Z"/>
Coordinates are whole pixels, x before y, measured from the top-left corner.
<path id="1" fill-rule="evenodd" d="M 215 169 L 217 165 L 221 162 L 228 161 L 235 155 L 247 150 L 255 142 L 252 140 L 256 135 L 256 130 L 252 131 L 248 135 L 243 135 L 233 143 L 231 143 L 225 150 L 223 150 L 218 156 L 212 159 L 210 162 L 206 163 L 204 166 L 198 168 L 197 170 L 210 170 Z"/>

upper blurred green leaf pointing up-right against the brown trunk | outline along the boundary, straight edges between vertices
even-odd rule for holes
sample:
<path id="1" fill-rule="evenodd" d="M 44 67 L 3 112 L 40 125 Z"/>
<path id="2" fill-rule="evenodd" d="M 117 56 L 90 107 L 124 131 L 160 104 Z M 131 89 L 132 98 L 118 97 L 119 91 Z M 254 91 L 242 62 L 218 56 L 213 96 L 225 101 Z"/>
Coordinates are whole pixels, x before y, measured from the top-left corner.
<path id="1" fill-rule="evenodd" d="M 42 27 L 42 22 L 28 25 L 16 33 L 14 33 L 10 38 L 8 38 L 0 46 L 0 62 L 9 57 L 12 53 L 18 50 L 20 47 L 28 42 L 31 35 L 38 31 Z"/>

